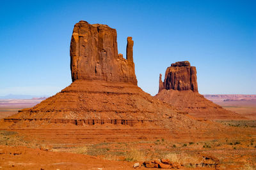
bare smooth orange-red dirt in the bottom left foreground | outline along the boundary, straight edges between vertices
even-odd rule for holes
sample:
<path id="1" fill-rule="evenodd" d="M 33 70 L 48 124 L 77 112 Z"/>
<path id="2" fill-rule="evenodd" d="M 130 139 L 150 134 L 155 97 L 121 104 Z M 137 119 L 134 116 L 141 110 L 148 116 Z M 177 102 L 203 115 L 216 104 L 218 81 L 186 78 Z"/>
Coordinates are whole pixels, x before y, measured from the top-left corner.
<path id="1" fill-rule="evenodd" d="M 0 167 L 3 169 L 133 169 L 132 165 L 132 162 L 83 154 L 0 145 Z"/>

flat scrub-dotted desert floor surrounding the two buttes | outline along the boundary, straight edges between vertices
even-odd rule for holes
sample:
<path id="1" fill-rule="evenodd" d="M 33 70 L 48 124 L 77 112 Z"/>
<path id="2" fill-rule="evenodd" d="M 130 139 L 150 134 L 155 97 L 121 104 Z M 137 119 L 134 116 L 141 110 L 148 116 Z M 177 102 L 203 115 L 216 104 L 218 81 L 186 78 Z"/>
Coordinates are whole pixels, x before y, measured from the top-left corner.
<path id="1" fill-rule="evenodd" d="M 37 132 L 28 129 L 0 129 L 0 168 L 133 169 L 136 162 L 142 164 L 146 160 L 164 158 L 179 162 L 181 169 L 255 169 L 256 105 L 245 102 L 237 104 L 234 101 L 218 104 L 249 118 L 218 121 L 234 131 L 243 131 L 243 136 L 183 139 L 180 135 L 175 140 L 165 139 L 164 136 L 139 139 L 138 136 L 136 140 L 124 138 L 120 141 L 108 136 L 102 136 L 99 140 L 83 140 L 73 136 L 74 139 L 63 140 L 63 136 L 81 132 L 74 129 L 65 132 L 58 129 L 51 132 L 45 129 L 37 129 Z M 0 118 L 12 115 L 20 108 L 25 106 L 4 105 L 0 108 Z M 100 127 L 97 130 L 99 133 L 106 131 Z M 53 137 L 45 138 L 48 133 Z M 87 133 L 91 133 L 90 129 Z M 125 135 L 129 138 L 129 134 Z M 138 168 L 146 169 L 142 166 Z"/>

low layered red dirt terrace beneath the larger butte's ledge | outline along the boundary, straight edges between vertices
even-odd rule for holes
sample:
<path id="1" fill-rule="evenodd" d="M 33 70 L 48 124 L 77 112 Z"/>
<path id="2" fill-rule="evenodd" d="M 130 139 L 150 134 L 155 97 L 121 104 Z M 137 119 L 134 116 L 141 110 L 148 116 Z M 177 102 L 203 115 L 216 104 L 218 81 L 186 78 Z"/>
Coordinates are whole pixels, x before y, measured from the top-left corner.
<path id="1" fill-rule="evenodd" d="M 99 127 L 98 127 L 99 128 Z M 125 141 L 152 141 L 168 139 L 169 141 L 189 142 L 234 137 L 239 132 L 232 129 L 221 129 L 220 134 L 211 132 L 171 132 L 168 129 L 135 129 L 124 127 L 122 129 L 0 129 L 4 131 L 19 132 L 21 136 L 31 141 L 44 139 L 48 143 L 84 144 L 93 142 L 125 142 Z M 227 133 L 230 134 L 227 134 Z M 214 133 L 214 131 L 212 131 Z M 242 132 L 240 132 L 242 133 Z M 248 133 L 248 132 L 247 132 Z"/>

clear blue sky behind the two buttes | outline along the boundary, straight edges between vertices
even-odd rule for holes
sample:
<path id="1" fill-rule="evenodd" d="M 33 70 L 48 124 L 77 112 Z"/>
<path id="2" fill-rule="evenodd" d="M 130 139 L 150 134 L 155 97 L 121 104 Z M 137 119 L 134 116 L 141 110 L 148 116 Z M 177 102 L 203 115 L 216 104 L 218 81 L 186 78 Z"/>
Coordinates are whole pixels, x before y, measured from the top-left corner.
<path id="1" fill-rule="evenodd" d="M 157 93 L 173 62 L 196 66 L 201 94 L 256 94 L 256 1 L 5 1 L 0 4 L 0 96 L 51 96 L 71 83 L 79 20 L 134 40 L 138 85 Z"/>

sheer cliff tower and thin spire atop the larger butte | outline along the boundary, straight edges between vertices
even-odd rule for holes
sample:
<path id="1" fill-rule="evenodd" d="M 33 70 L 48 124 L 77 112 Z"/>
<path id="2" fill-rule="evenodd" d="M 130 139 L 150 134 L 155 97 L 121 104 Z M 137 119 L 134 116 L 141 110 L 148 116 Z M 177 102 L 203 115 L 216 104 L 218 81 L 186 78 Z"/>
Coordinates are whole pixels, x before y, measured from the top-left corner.
<path id="1" fill-rule="evenodd" d="M 102 24 L 80 21 L 70 43 L 72 81 L 105 80 L 137 85 L 132 57 L 133 41 L 127 38 L 127 56 L 118 55 L 116 30 Z"/>

